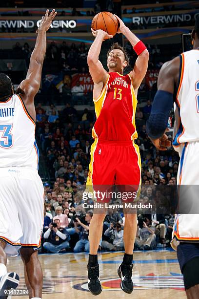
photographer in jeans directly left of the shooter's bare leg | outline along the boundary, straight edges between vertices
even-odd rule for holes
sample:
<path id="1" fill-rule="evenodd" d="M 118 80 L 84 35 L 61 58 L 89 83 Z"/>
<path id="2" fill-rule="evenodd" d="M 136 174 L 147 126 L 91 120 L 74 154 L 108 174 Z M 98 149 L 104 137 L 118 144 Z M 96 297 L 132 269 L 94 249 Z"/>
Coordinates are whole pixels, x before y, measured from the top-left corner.
<path id="1" fill-rule="evenodd" d="M 80 221 L 78 217 L 74 220 L 75 225 L 75 231 L 79 234 L 80 240 L 76 243 L 74 247 L 74 252 L 89 252 L 89 224 L 91 222 L 91 219 L 93 217 L 92 212 L 87 212 L 85 215 L 85 221 L 87 224 L 84 224 Z"/>

